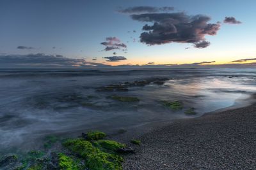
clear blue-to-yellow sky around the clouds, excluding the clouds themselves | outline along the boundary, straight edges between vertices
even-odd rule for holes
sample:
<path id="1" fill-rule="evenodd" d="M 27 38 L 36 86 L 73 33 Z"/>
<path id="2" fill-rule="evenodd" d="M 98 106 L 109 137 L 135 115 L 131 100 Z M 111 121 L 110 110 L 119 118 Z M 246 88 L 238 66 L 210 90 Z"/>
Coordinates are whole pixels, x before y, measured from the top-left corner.
<path id="1" fill-rule="evenodd" d="M 140 42 L 142 27 L 127 13 L 118 10 L 134 6 L 173 6 L 186 15 L 207 15 L 209 23 L 222 22 L 214 36 L 206 35 L 211 45 L 194 48 L 191 43 L 146 45 Z M 124 56 L 127 60 L 107 64 L 182 64 L 216 61 L 216 64 L 255 57 L 256 1 L 65 1 L 1 0 L 0 53 L 26 55 L 45 53 L 106 63 L 102 57 Z M 223 24 L 235 17 L 242 24 Z M 130 31 L 130 32 L 128 32 Z M 136 32 L 132 32 L 136 31 Z M 127 45 L 122 50 L 102 51 L 103 41 L 116 37 Z M 135 39 L 135 42 L 133 42 Z M 129 42 L 127 42 L 129 41 Z M 33 49 L 18 49 L 31 46 Z M 52 48 L 55 47 L 55 48 Z M 189 47 L 189 49 L 185 49 Z"/>

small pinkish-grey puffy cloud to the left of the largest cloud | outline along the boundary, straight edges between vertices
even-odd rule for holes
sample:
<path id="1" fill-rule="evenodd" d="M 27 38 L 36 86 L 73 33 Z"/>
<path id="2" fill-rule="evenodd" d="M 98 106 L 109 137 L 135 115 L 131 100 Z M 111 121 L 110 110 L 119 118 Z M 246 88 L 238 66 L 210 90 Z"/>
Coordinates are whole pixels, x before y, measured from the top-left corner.
<path id="1" fill-rule="evenodd" d="M 110 50 L 126 50 L 127 45 L 124 43 L 121 43 L 120 39 L 116 37 L 107 37 L 106 41 L 100 43 L 101 45 L 106 46 L 104 51 L 110 51 Z"/>

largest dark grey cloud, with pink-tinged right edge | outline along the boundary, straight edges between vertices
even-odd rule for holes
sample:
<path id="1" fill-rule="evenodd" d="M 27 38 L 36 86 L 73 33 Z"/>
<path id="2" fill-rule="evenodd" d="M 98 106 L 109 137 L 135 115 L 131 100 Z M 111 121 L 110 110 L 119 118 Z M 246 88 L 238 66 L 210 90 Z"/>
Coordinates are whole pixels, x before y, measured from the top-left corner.
<path id="1" fill-rule="evenodd" d="M 210 17 L 205 15 L 186 15 L 179 13 L 143 13 L 131 15 L 133 20 L 150 22 L 145 24 L 140 35 L 140 41 L 147 45 L 166 43 L 193 43 L 196 48 L 205 48 L 209 42 L 206 35 L 214 36 L 220 29 L 220 24 L 209 24 Z"/>

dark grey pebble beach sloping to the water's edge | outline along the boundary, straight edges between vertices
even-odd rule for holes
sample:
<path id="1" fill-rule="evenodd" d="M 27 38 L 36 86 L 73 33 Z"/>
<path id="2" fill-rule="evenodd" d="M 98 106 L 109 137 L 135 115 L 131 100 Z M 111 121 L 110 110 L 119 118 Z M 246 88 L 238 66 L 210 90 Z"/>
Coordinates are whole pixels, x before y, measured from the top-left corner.
<path id="1" fill-rule="evenodd" d="M 136 136 L 141 146 L 125 156 L 124 169 L 255 169 L 253 120 L 255 102 L 175 120 Z"/>

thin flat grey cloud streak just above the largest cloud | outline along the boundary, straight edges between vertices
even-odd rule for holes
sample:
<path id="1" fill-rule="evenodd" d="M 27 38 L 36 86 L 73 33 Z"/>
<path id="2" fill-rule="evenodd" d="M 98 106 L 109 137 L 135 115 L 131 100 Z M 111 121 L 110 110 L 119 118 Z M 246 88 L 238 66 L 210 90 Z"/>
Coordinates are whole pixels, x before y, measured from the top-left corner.
<path id="1" fill-rule="evenodd" d="M 134 6 L 130 8 L 125 8 L 122 10 L 118 10 L 120 13 L 156 13 L 159 11 L 173 11 L 173 6 L 163 6 L 161 8 L 153 7 L 153 6 Z"/>

